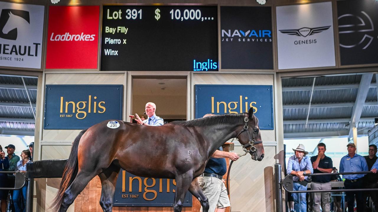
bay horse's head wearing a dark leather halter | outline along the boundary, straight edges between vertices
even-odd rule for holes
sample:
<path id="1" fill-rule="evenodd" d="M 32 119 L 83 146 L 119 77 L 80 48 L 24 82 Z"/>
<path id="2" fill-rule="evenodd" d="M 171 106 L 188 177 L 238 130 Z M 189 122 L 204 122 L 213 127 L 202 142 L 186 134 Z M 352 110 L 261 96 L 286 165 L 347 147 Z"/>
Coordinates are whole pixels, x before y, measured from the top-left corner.
<path id="1" fill-rule="evenodd" d="M 243 151 L 251 154 L 253 160 L 261 161 L 264 158 L 264 147 L 258 125 L 259 120 L 253 115 L 253 108 L 250 108 L 246 115 L 248 117 L 244 118 L 244 126 L 236 139 L 242 144 Z"/>

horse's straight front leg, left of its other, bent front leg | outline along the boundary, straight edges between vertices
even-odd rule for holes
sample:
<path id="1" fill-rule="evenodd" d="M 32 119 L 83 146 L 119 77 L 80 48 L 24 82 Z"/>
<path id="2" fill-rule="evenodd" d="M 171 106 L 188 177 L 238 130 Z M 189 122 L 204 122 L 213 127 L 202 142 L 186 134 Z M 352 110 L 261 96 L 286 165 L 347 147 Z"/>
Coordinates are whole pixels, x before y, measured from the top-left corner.
<path id="1" fill-rule="evenodd" d="M 184 173 L 176 175 L 176 194 L 175 204 L 173 205 L 174 212 L 181 212 L 184 204 L 186 192 L 193 181 L 193 173 Z"/>

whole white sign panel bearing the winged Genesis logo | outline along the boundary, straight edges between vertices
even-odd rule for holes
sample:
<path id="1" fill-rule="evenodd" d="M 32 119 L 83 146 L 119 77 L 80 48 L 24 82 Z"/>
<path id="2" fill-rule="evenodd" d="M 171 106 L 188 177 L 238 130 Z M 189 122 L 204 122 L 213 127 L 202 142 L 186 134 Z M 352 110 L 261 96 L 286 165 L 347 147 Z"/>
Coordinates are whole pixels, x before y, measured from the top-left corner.
<path id="1" fill-rule="evenodd" d="M 336 66 L 332 2 L 276 11 L 278 69 Z"/>

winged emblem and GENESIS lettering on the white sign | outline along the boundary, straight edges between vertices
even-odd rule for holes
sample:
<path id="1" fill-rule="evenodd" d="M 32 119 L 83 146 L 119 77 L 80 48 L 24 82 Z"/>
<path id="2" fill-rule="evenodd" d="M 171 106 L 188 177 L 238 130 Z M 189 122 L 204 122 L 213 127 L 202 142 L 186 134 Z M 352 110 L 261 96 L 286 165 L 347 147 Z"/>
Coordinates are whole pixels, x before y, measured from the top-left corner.
<path id="1" fill-rule="evenodd" d="M 300 29 L 282 29 L 279 31 L 283 34 L 294 35 L 294 36 L 299 36 L 299 37 L 307 37 L 307 36 L 311 36 L 311 35 L 323 32 L 329 29 L 330 27 L 331 26 L 321 26 L 321 27 L 315 27 L 315 28 L 303 27 Z M 316 39 L 294 41 L 294 45 L 311 44 L 311 43 L 312 44 L 316 43 Z"/>

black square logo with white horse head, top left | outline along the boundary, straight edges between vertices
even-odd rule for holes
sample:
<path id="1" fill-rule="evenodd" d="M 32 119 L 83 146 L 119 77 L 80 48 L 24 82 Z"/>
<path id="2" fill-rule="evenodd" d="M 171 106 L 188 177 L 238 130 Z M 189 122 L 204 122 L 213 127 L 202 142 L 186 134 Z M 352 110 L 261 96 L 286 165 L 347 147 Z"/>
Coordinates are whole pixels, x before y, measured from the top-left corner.
<path id="1" fill-rule="evenodd" d="M 30 15 L 28 11 L 18 9 L 2 9 L 0 15 L 0 38 L 16 40 L 17 29 L 30 26 Z"/>

